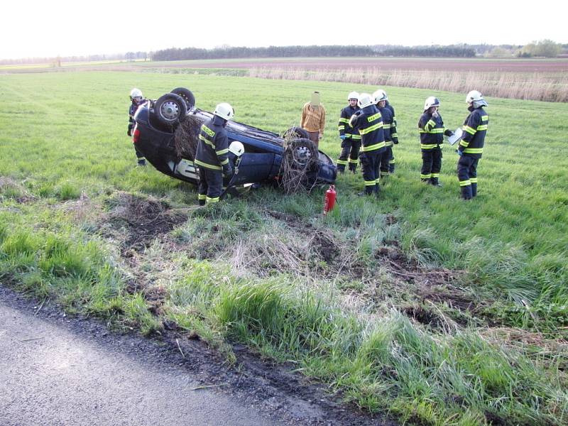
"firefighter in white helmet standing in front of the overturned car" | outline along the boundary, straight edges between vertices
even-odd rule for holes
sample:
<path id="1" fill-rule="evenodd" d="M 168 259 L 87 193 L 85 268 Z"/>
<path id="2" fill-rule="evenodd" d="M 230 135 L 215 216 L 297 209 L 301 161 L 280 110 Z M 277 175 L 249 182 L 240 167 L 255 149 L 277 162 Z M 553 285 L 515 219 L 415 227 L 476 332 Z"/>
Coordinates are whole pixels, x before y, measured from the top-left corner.
<path id="1" fill-rule="evenodd" d="M 222 103 L 215 107 L 213 118 L 201 126 L 195 164 L 199 165 L 200 186 L 197 200 L 200 206 L 219 202 L 223 191 L 223 175 L 232 175 L 229 163 L 229 139 L 226 122 L 234 117 L 231 105 Z"/>

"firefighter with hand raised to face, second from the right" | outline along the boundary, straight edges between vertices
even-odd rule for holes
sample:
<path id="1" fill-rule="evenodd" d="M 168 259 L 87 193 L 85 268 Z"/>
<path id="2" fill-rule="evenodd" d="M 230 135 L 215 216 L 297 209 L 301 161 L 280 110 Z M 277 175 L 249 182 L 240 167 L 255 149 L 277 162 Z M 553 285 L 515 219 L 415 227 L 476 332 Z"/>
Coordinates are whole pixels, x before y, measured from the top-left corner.
<path id="1" fill-rule="evenodd" d="M 439 172 L 442 169 L 441 145 L 444 143 L 444 135 L 454 134 L 451 130 L 444 128 L 444 121 L 438 108 L 439 100 L 433 96 L 428 97 L 424 103 L 424 113 L 418 121 L 420 149 L 422 150 L 420 179 L 434 186 L 442 186 L 439 183 Z"/>

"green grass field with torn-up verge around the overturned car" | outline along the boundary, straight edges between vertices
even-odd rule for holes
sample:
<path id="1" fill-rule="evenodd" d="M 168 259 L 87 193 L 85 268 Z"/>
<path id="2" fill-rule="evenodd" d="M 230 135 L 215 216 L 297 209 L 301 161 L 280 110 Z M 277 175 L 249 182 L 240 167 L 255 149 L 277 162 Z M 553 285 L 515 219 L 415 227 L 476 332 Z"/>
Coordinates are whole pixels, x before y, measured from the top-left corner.
<path id="1" fill-rule="evenodd" d="M 135 168 L 128 94 L 188 87 L 197 106 L 282 132 L 322 92 L 320 148 L 339 154 L 352 90 L 331 82 L 126 72 L 0 75 L 0 281 L 111 327 L 197 332 L 297 370 L 372 412 L 423 425 L 568 421 L 568 104 L 488 99 L 479 196 L 459 200 L 457 155 L 442 188 L 420 182 L 417 120 L 465 94 L 386 87 L 397 169 L 380 200 L 361 176 L 283 196 L 261 188 L 198 208 L 195 188 Z M 473 88 L 472 88 L 473 89 Z M 483 87 L 476 87 L 483 92 Z M 144 232 L 144 229 L 151 231 Z"/>

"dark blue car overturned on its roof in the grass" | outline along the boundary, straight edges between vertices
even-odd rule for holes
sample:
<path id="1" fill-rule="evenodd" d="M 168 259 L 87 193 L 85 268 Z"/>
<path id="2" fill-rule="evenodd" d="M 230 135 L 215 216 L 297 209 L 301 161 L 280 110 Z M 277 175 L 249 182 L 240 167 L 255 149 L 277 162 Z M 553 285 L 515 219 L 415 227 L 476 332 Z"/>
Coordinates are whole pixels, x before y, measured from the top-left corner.
<path id="1" fill-rule="evenodd" d="M 173 89 L 156 101 L 141 104 L 134 115 L 133 143 L 157 170 L 180 180 L 199 183 L 195 151 L 198 134 L 212 113 L 195 107 L 195 97 L 185 88 Z M 335 182 L 337 168 L 318 151 L 304 129 L 292 127 L 282 136 L 236 121 L 228 121 L 229 148 L 234 174 L 224 177 L 224 187 L 247 187 L 273 182 L 287 192 L 300 187 Z M 244 152 L 242 147 L 244 147 Z"/>

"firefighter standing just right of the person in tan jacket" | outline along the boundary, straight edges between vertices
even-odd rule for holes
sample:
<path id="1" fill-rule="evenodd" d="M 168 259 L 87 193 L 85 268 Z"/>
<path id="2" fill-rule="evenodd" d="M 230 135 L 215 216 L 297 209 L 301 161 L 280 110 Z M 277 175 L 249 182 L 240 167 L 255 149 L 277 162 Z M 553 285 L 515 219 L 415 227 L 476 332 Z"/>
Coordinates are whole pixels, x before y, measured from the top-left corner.
<path id="1" fill-rule="evenodd" d="M 359 161 L 359 149 L 361 148 L 361 135 L 358 131 L 349 125 L 351 116 L 359 111 L 357 102 L 359 101 L 359 93 L 351 92 L 347 95 L 347 105 L 339 114 L 339 138 L 342 140 L 342 153 L 337 160 L 337 171 L 344 173 L 345 166 L 349 163 L 349 171 L 355 173 L 357 170 L 357 162 Z"/>

